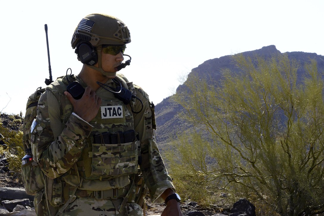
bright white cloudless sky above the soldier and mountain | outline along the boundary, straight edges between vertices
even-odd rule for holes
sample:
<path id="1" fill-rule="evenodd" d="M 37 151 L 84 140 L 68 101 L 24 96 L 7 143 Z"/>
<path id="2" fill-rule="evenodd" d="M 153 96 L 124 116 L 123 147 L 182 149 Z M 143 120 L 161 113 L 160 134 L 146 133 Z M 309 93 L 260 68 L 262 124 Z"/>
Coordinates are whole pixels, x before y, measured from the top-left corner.
<path id="1" fill-rule="evenodd" d="M 120 18 L 132 36 L 125 51 L 132 63 L 120 73 L 157 104 L 172 95 L 179 77 L 209 59 L 268 45 L 281 52 L 324 55 L 323 6 L 321 0 L 5 0 L 0 6 L 0 111 L 24 114 L 29 95 L 45 87 L 44 24 L 55 79 L 67 68 L 78 74 L 82 67 L 70 42 L 83 17 L 106 13 Z"/>

